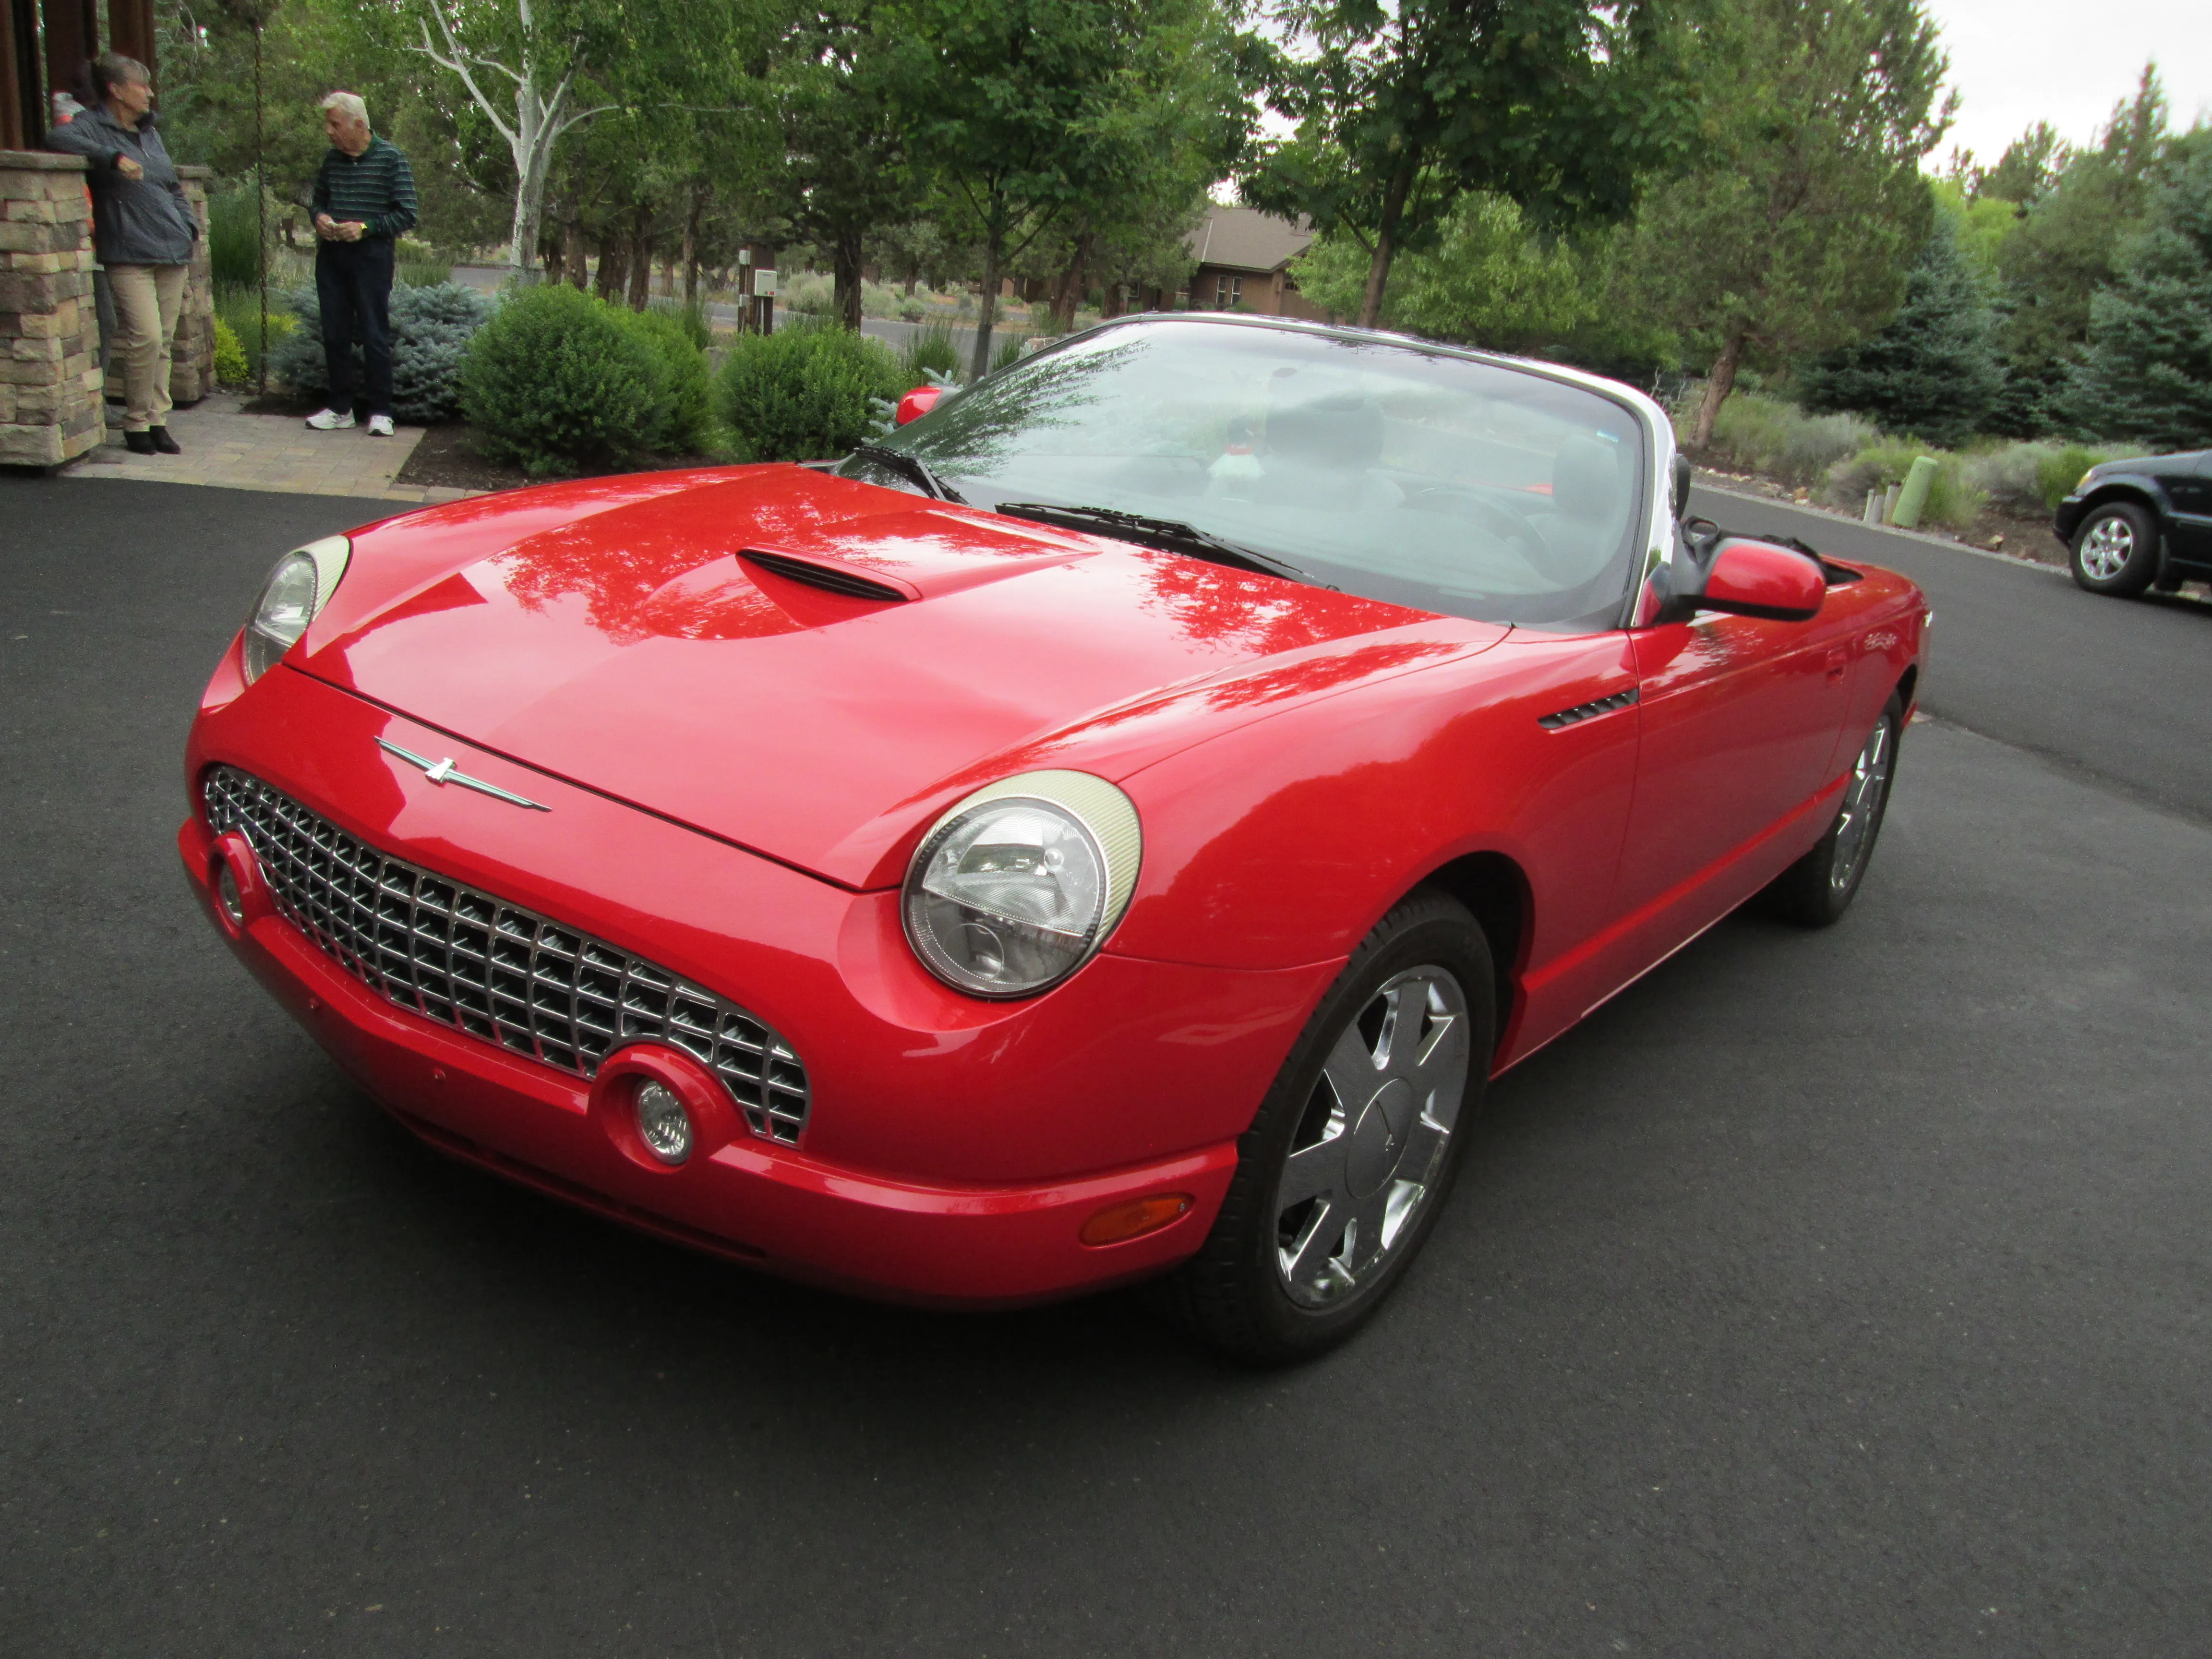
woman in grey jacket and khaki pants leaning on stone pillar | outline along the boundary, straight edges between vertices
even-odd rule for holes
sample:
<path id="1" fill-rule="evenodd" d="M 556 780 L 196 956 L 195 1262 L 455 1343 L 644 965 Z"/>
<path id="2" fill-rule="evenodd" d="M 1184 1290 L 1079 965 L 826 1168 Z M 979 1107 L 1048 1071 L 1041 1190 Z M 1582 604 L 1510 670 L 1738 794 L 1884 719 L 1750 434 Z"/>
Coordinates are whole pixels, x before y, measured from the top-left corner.
<path id="1" fill-rule="evenodd" d="M 93 164 L 93 252 L 115 292 L 115 356 L 124 365 L 124 442 L 177 453 L 168 436 L 168 363 L 199 219 L 155 131 L 153 75 L 119 53 L 93 60 L 97 104 L 46 133 L 49 150 Z"/>

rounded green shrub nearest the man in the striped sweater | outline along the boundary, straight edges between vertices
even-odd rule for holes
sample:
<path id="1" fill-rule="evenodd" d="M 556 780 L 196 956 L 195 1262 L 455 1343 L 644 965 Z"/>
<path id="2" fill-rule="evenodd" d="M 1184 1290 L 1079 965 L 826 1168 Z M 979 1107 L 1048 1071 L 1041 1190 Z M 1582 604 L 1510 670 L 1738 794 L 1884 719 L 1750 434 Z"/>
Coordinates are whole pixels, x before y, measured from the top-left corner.
<path id="1" fill-rule="evenodd" d="M 666 403 L 659 352 L 626 312 L 566 283 L 513 294 L 460 363 L 460 407 L 489 460 L 533 478 L 611 467 L 639 447 Z"/>

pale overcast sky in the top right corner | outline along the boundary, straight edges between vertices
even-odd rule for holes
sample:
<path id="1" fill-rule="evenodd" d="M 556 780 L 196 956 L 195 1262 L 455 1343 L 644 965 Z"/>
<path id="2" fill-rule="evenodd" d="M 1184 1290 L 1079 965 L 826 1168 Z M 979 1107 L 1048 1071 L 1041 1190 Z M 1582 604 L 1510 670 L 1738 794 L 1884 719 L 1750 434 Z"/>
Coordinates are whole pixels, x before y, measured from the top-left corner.
<path id="1" fill-rule="evenodd" d="M 2086 144 L 2157 58 L 2172 124 L 2212 115 L 2212 4 L 2205 0 L 1927 0 L 1958 88 L 1953 144 L 1995 166 L 2035 122 Z"/>

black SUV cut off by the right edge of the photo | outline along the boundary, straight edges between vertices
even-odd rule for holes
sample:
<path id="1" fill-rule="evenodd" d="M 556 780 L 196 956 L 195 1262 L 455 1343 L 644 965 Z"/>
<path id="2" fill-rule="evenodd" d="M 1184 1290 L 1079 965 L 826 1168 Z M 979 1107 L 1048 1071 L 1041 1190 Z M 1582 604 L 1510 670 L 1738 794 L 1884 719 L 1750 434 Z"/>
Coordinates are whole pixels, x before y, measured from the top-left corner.
<path id="1" fill-rule="evenodd" d="M 2212 582 L 2212 449 L 2090 467 L 2059 502 L 2057 531 L 2090 593 Z"/>

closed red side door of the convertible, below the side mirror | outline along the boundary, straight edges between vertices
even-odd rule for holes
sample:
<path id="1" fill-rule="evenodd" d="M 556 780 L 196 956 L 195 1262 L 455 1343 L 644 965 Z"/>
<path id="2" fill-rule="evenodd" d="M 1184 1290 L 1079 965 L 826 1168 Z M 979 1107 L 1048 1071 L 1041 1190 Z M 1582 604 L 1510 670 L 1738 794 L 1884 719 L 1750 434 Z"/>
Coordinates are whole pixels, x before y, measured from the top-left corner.
<path id="1" fill-rule="evenodd" d="M 1615 911 L 1637 971 L 1772 880 L 1792 825 L 1834 781 L 1851 706 L 1856 611 L 1812 622 L 1701 613 L 1632 633 L 1637 785 Z"/>

